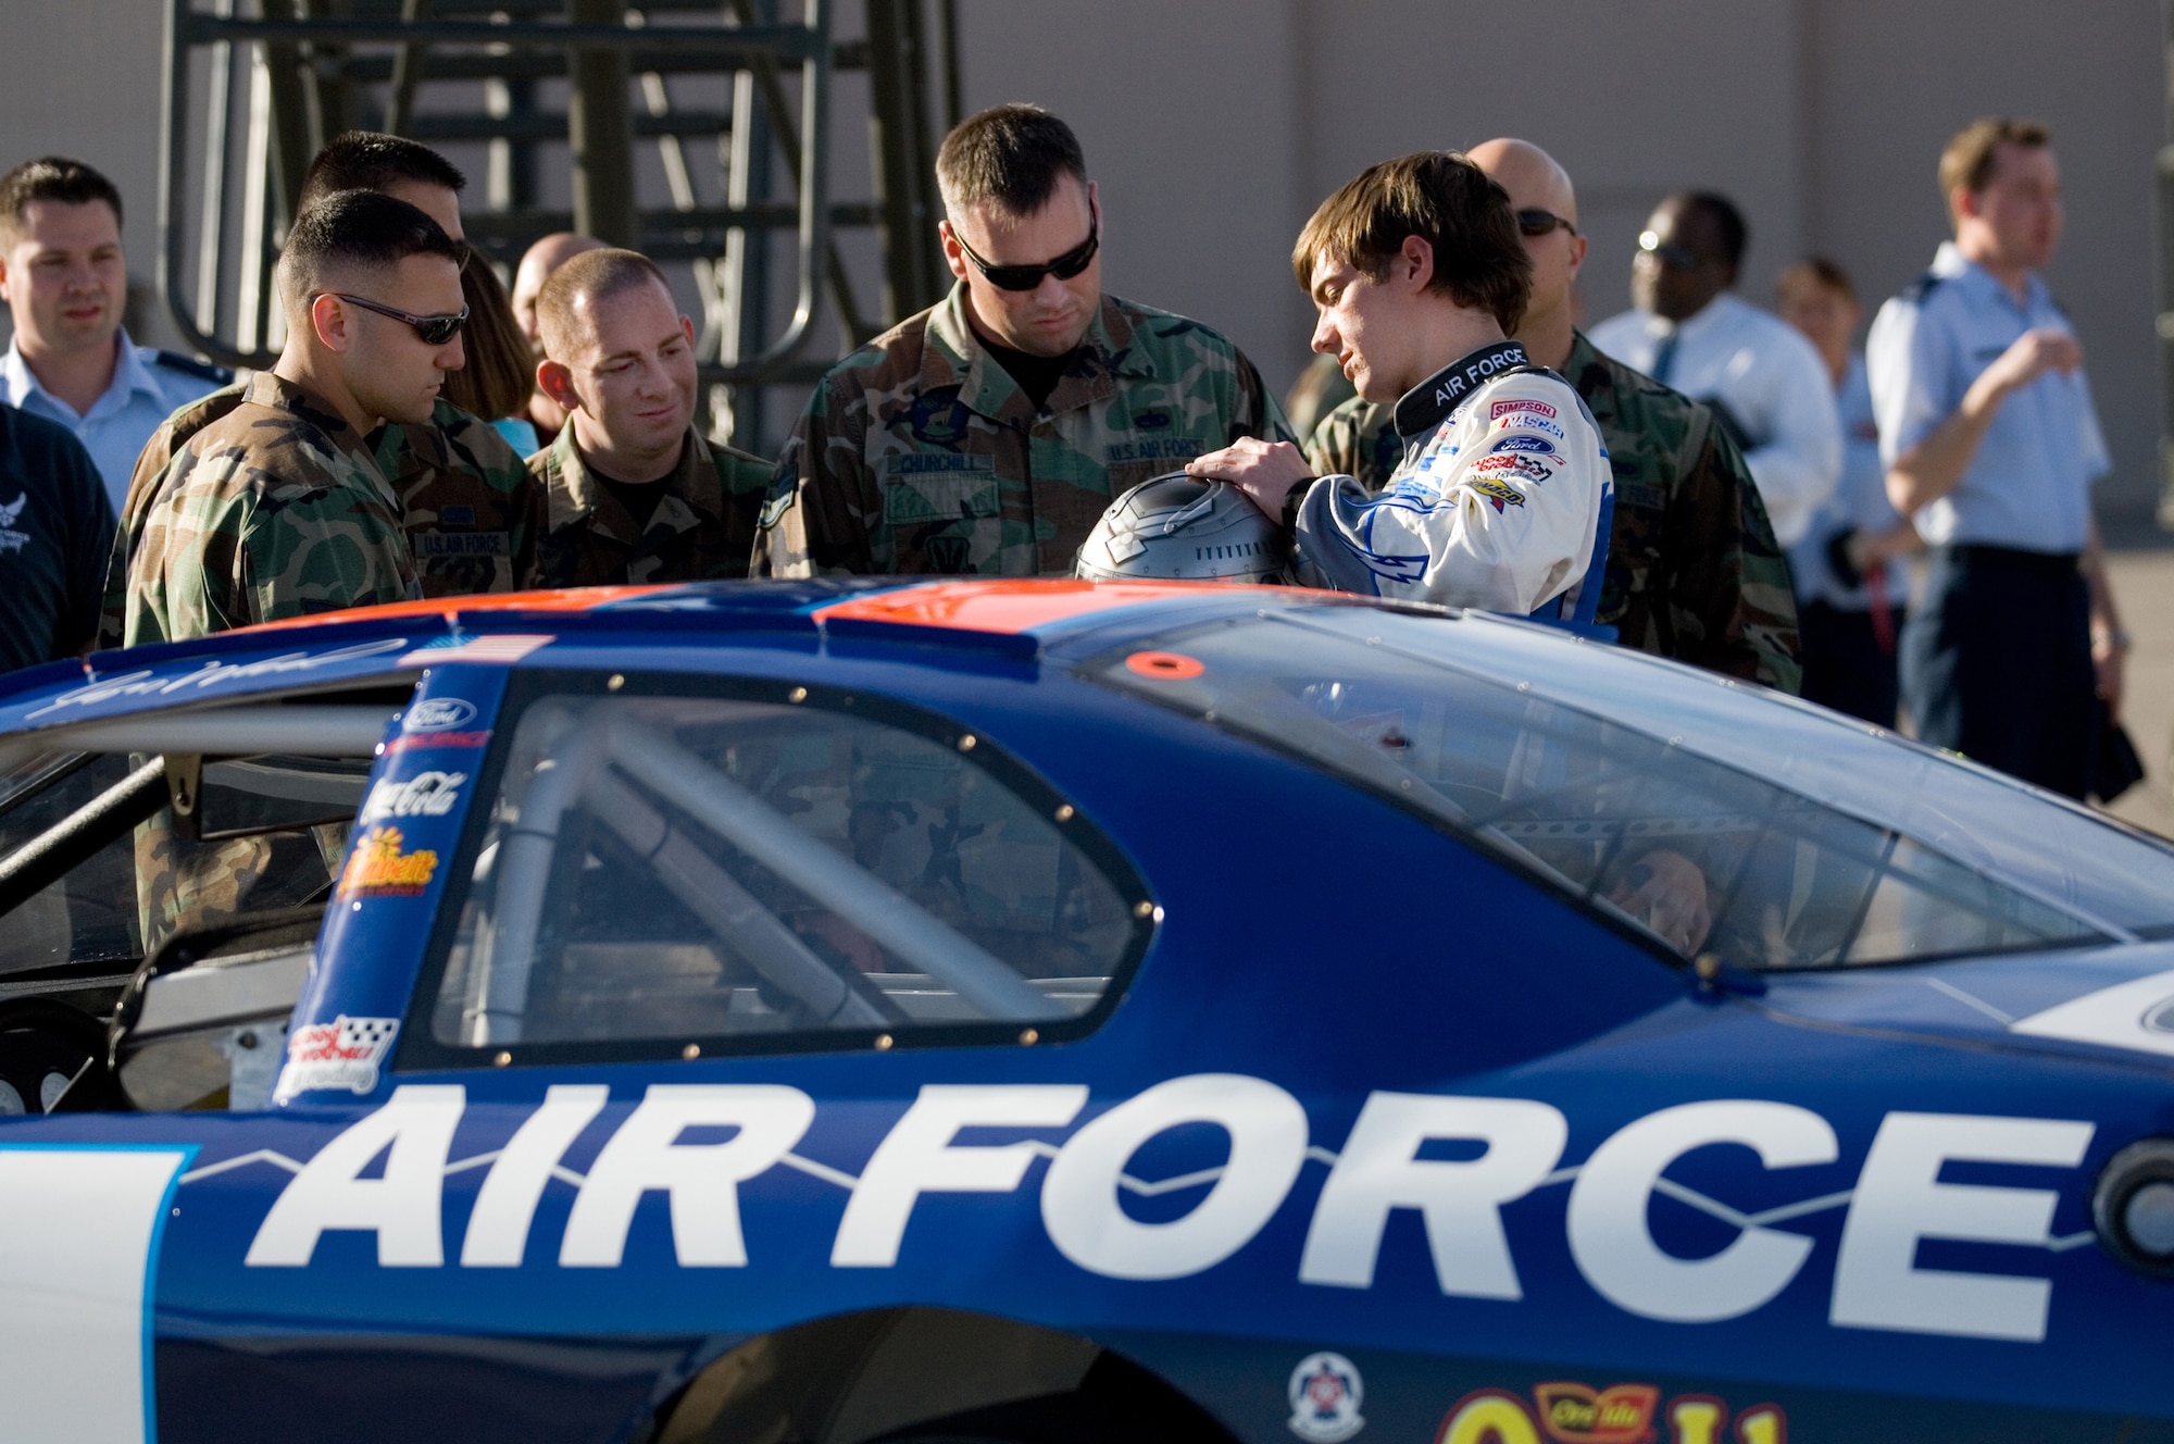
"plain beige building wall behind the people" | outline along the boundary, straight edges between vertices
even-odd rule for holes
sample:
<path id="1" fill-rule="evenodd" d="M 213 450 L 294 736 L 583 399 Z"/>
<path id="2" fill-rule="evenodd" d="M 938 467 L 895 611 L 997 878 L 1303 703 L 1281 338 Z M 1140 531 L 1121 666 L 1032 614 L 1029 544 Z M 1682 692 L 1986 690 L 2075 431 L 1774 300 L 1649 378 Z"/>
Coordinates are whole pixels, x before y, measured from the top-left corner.
<path id="1" fill-rule="evenodd" d="M 4 161 L 78 154 L 124 189 L 152 274 L 161 0 L 11 0 Z M 787 7 L 791 0 L 785 0 Z M 857 33 L 857 0 L 841 33 Z M 1741 291 L 1817 248 L 1876 304 L 1946 233 L 1933 165 L 1972 115 L 2054 128 L 2070 228 L 2050 281 L 2089 354 L 2115 476 L 2154 494 L 2152 163 L 2163 141 L 2148 0 L 961 0 L 967 107 L 1037 100 L 1080 133 L 1107 213 L 1111 289 L 1226 331 L 1285 387 L 1311 309 L 1289 244 L 1370 161 L 1524 135 L 1578 183 L 1587 315 L 1628 304 L 1652 202 L 1733 196 Z M 841 85 L 839 189 L 865 185 Z M 865 241 L 852 246 L 874 294 Z"/>

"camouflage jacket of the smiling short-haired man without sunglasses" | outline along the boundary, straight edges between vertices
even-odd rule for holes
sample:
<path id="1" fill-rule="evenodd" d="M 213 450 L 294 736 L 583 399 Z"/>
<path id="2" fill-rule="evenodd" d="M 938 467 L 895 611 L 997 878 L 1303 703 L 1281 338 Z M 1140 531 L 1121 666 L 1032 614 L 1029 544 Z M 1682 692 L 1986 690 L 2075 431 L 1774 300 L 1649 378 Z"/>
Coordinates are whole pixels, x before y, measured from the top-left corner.
<path id="1" fill-rule="evenodd" d="M 528 459 L 550 518 L 539 548 L 539 585 L 746 576 L 770 472 L 761 457 L 711 446 L 689 426 L 678 470 L 665 478 L 648 531 L 637 531 L 620 498 L 583 465 L 574 426 L 561 426 L 559 439 Z"/>

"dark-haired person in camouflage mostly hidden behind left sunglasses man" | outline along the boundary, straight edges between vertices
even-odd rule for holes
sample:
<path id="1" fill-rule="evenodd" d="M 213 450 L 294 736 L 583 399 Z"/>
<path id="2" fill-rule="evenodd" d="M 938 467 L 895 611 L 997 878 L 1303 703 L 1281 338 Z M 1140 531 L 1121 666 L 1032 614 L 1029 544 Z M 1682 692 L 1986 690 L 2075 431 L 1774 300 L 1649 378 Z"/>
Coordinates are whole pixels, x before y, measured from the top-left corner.
<path id="1" fill-rule="evenodd" d="M 302 183 L 302 202 L 307 209 L 343 189 L 383 191 L 424 211 L 446 235 L 465 246 L 459 196 L 463 185 L 465 176 L 426 146 L 350 130 L 317 152 Z M 467 259 L 467 265 L 483 263 Z M 233 385 L 183 407 L 137 457 L 113 557 L 107 563 L 98 646 L 122 646 L 128 563 L 143 544 L 152 505 L 165 494 L 167 463 L 189 437 L 230 415 L 241 404 L 243 391 L 243 385 Z M 400 498 L 400 524 L 409 533 L 424 596 L 517 592 L 537 585 L 535 548 L 544 535 L 544 494 L 489 422 L 441 396 L 428 422 L 413 426 L 387 422 L 370 433 L 367 444 Z"/>

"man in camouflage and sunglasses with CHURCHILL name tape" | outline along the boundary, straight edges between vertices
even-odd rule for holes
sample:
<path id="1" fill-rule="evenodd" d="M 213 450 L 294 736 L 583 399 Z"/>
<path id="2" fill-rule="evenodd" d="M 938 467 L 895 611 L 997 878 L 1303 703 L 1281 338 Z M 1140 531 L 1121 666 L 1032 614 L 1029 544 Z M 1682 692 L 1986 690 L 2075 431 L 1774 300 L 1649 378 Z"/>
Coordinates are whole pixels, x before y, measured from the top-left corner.
<path id="1" fill-rule="evenodd" d="M 1070 574 L 1117 494 L 1239 437 L 1289 439 L 1230 341 L 1102 294 L 1098 196 L 1061 120 L 972 115 L 937 180 L 959 283 L 817 383 L 759 574 Z"/>

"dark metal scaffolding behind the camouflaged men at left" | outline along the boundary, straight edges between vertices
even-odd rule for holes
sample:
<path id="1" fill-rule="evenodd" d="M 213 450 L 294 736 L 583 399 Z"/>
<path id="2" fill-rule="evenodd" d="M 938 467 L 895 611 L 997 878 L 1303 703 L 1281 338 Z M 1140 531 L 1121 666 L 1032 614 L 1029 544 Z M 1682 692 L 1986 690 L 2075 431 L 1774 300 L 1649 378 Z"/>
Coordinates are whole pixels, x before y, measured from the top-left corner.
<path id="1" fill-rule="evenodd" d="M 480 144 L 470 244 L 507 274 L 554 231 L 687 263 L 709 431 L 767 450 L 765 391 L 824 370 L 809 359 L 824 304 L 850 350 L 944 296 L 933 170 L 959 117 L 957 0 L 861 0 L 865 37 L 846 41 L 835 0 L 798 0 L 798 20 L 778 2 L 170 0 L 157 281 L 174 326 L 228 365 L 272 363 L 272 263 L 328 137 Z M 833 196 L 839 72 L 867 80 L 865 200 Z M 839 231 L 874 233 L 874 313 Z M 772 304 L 774 272 L 791 276 L 789 309 Z"/>

